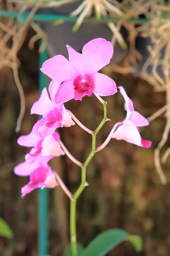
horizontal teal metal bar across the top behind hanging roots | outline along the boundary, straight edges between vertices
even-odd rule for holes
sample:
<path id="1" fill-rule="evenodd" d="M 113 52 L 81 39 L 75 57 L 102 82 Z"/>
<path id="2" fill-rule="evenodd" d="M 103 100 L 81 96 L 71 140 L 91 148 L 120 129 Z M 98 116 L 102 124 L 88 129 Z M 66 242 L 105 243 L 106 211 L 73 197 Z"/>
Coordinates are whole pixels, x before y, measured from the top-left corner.
<path id="1" fill-rule="evenodd" d="M 8 12 L 4 10 L 0 10 L 0 16 L 2 17 L 22 17 L 24 20 L 28 17 L 29 13 L 18 13 L 18 12 Z M 34 21 L 55 21 L 55 20 L 64 20 L 64 21 L 70 21 L 70 22 L 75 22 L 77 20 L 77 17 L 70 17 L 68 15 L 55 15 L 55 14 L 34 14 L 31 20 Z M 90 17 L 86 18 L 84 22 L 97 22 L 97 23 L 106 23 L 108 21 L 117 21 L 120 20 L 119 18 L 113 18 L 113 17 L 102 17 L 101 20 L 96 20 L 96 17 Z M 149 19 L 146 18 L 139 18 L 139 19 L 134 19 L 134 18 L 128 18 L 126 17 L 125 20 L 129 20 L 132 23 L 135 24 L 141 24 L 141 23 L 147 23 L 150 21 Z"/>

